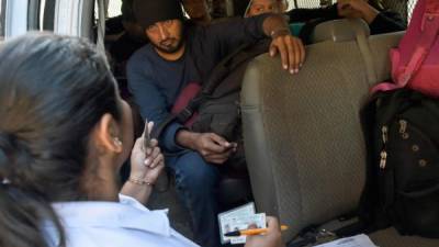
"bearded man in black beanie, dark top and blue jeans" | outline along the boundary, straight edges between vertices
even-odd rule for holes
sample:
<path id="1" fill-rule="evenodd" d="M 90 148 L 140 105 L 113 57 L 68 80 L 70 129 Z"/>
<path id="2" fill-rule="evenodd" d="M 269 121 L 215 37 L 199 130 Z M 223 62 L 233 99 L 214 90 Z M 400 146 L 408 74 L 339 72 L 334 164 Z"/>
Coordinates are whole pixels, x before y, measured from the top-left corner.
<path id="1" fill-rule="evenodd" d="M 291 36 L 280 15 L 201 26 L 182 22 L 178 0 L 134 0 L 133 9 L 150 43 L 131 57 L 128 86 L 142 116 L 156 126 L 170 114 L 189 83 L 205 81 L 215 65 L 244 43 L 271 37 L 270 54 L 280 54 L 282 67 L 291 74 L 296 74 L 304 61 L 301 41 Z M 214 133 L 191 132 L 177 122 L 165 128 L 159 144 L 190 211 L 195 242 L 219 246 L 218 167 L 236 150 L 236 144 Z"/>

